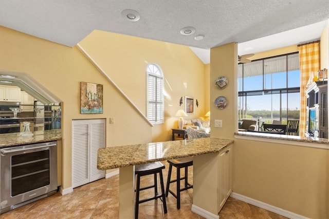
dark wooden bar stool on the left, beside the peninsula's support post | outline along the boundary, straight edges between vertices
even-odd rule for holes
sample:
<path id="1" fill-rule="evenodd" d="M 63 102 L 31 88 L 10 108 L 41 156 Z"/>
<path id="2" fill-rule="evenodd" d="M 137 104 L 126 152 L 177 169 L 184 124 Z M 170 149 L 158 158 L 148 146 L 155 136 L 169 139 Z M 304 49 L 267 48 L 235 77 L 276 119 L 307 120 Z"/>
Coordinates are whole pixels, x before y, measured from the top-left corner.
<path id="1" fill-rule="evenodd" d="M 163 165 L 161 162 L 152 162 L 152 163 L 145 163 L 143 165 L 136 165 L 135 166 L 135 175 L 137 176 L 137 182 L 136 182 L 136 203 L 135 203 L 135 218 L 138 218 L 138 206 L 140 203 L 148 202 L 149 200 L 154 200 L 157 198 L 160 198 L 163 204 L 163 211 L 167 213 L 167 204 L 166 204 L 166 196 L 165 196 L 165 186 L 163 185 L 163 175 L 162 175 L 162 169 L 165 169 L 165 165 Z M 161 187 L 161 194 L 158 194 L 157 189 L 157 173 L 160 176 L 160 187 Z M 147 186 L 140 188 L 140 177 L 141 176 L 147 176 L 147 175 L 154 175 L 154 185 Z M 151 198 L 145 198 L 142 200 L 139 200 L 139 192 L 141 190 L 145 189 L 151 189 L 154 188 L 154 197 Z"/>

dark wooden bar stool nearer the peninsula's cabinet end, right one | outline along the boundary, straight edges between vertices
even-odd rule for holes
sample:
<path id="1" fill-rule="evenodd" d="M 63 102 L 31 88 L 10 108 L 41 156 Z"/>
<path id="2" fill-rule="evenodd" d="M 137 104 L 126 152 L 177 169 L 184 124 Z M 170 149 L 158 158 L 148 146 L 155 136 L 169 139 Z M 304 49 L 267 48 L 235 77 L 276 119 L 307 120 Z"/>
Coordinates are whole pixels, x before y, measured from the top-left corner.
<path id="1" fill-rule="evenodd" d="M 166 186 L 166 197 L 168 197 L 169 192 L 177 199 L 177 209 L 180 209 L 180 192 L 184 190 L 188 190 L 193 188 L 193 185 L 188 182 L 188 167 L 193 166 L 192 157 L 184 157 L 178 159 L 167 160 L 169 162 L 169 171 L 167 178 L 167 186 Z M 177 169 L 176 179 L 171 179 L 171 171 L 172 168 L 175 167 Z M 185 176 L 180 177 L 180 169 L 185 168 Z M 180 180 L 184 179 L 184 188 L 180 189 Z M 169 189 L 171 183 L 176 182 L 176 194 Z"/>

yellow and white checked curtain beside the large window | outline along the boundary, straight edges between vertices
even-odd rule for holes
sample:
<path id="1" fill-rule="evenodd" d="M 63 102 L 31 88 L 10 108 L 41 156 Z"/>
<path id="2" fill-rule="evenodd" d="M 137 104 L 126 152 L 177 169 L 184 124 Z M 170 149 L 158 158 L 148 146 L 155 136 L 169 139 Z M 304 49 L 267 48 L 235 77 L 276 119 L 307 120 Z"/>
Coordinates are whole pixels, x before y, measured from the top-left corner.
<path id="1" fill-rule="evenodd" d="M 299 45 L 300 68 L 300 136 L 304 136 L 306 126 L 306 84 L 310 77 L 317 76 L 320 69 L 320 42 Z"/>

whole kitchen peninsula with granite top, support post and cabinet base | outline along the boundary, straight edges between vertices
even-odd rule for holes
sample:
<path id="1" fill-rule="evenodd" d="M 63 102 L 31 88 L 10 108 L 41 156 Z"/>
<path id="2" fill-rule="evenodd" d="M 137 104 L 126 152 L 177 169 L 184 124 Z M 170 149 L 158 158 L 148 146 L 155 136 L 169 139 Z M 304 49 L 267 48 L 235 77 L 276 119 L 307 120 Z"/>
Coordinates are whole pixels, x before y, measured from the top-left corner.
<path id="1" fill-rule="evenodd" d="M 134 165 L 193 156 L 192 211 L 219 218 L 232 188 L 232 145 L 233 140 L 210 137 L 103 148 L 98 150 L 97 168 L 120 168 L 119 217 L 133 218 Z"/>

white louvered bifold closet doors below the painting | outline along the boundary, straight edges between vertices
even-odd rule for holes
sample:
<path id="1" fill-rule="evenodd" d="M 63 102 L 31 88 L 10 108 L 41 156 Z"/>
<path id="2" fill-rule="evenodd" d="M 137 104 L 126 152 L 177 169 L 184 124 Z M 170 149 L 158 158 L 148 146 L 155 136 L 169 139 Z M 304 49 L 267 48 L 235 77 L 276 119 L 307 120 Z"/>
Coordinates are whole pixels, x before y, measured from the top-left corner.
<path id="1" fill-rule="evenodd" d="M 97 151 L 105 148 L 105 119 L 72 120 L 72 188 L 105 177 Z"/>

